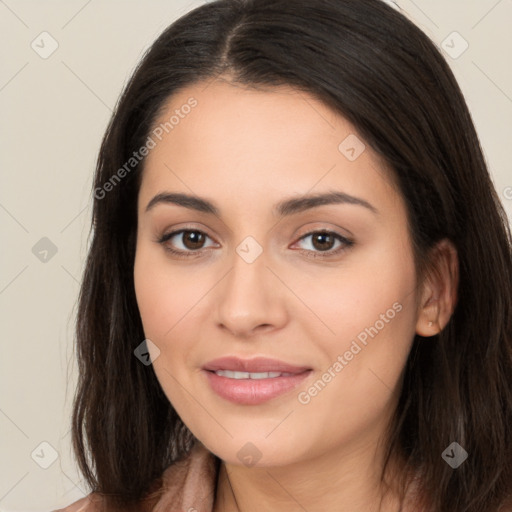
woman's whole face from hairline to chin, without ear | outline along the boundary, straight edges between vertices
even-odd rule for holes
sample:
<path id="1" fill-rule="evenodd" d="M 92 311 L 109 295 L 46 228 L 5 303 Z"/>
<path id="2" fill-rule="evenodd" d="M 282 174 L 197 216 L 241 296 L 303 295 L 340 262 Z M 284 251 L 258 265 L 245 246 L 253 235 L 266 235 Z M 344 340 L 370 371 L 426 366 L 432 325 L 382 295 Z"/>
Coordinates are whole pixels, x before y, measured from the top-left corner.
<path id="1" fill-rule="evenodd" d="M 184 423 L 231 464 L 375 442 L 417 319 L 405 205 L 384 163 L 347 120 L 286 87 L 196 84 L 150 135 L 135 289 L 154 371 Z M 282 206 L 326 193 L 339 200 Z M 204 369 L 224 356 L 260 380 Z M 260 357 L 297 368 L 243 366 Z"/>

